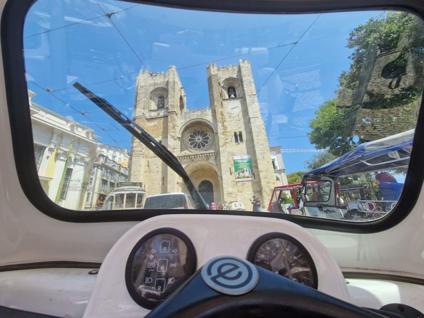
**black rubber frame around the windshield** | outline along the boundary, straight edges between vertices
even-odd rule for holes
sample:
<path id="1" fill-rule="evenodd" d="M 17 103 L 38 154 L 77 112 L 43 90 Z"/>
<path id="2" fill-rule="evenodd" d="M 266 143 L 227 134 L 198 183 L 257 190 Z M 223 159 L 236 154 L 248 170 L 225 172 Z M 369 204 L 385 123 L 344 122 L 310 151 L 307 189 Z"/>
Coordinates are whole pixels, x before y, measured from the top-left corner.
<path id="1" fill-rule="evenodd" d="M 23 25 L 25 15 L 34 0 L 13 1 L 8 0 L 1 19 L 1 47 L 3 56 L 3 68 L 5 77 L 6 99 L 9 113 L 10 132 L 12 139 L 13 154 L 17 176 L 22 190 L 31 204 L 45 215 L 74 223 L 98 223 L 98 222 L 126 222 L 143 221 L 161 214 L 179 214 L 178 210 L 120 210 L 120 211 L 92 211 L 80 212 L 62 208 L 51 201 L 44 193 L 40 182 L 38 182 L 37 168 L 35 165 L 33 151 L 33 136 L 30 117 L 29 100 L 26 94 L 27 85 L 25 79 L 25 66 L 23 52 Z M 414 0 L 358 0 L 339 1 L 329 0 L 320 3 L 311 3 L 307 0 L 288 1 L 260 1 L 249 2 L 240 1 L 213 1 L 198 2 L 190 0 L 169 0 L 159 1 L 136 1 L 151 5 L 168 7 L 182 7 L 185 9 L 201 9 L 227 12 L 243 13 L 324 13 L 334 11 L 353 10 L 375 10 L 389 9 L 408 10 L 423 19 L 424 3 Z M 243 10 L 240 10 L 243 6 Z M 18 40 L 16 40 L 16 37 Z M 423 102 L 421 104 L 419 118 L 417 121 L 414 142 L 419 145 L 419 141 L 424 139 L 424 112 Z M 322 229 L 347 233 L 375 233 L 394 227 L 405 219 L 414 208 L 424 179 L 424 148 L 414 147 L 411 153 L 410 165 L 403 193 L 399 199 L 396 213 L 390 213 L 377 221 L 354 223 L 343 220 L 310 218 L 290 214 L 270 214 L 257 212 L 221 211 L 226 215 L 244 215 L 255 217 L 271 217 L 289 220 L 305 228 Z M 214 214 L 214 211 L 205 210 L 184 210 L 184 214 Z"/>

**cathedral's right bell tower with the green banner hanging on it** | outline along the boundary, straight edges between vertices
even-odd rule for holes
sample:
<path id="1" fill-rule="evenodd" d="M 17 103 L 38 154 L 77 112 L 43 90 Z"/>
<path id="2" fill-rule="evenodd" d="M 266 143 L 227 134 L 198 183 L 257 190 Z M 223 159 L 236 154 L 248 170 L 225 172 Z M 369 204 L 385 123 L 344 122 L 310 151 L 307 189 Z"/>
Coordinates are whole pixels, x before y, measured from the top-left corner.
<path id="1" fill-rule="evenodd" d="M 209 99 L 218 130 L 219 170 L 225 201 L 242 201 L 250 210 L 255 195 L 268 201 L 275 185 L 271 154 L 250 62 L 207 67 Z M 245 160 L 246 168 L 239 168 Z"/>

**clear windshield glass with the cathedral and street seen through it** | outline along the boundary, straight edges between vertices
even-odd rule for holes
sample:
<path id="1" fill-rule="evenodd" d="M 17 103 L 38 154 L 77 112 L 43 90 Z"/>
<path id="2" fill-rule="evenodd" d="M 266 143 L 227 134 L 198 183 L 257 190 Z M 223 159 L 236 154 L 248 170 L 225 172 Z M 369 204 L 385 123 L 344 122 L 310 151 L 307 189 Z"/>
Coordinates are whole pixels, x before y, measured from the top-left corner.
<path id="1" fill-rule="evenodd" d="M 38 0 L 23 42 L 34 168 L 62 207 L 182 209 L 152 196 L 191 193 L 76 82 L 165 146 L 211 210 L 360 222 L 368 214 L 355 212 L 389 213 L 402 192 L 424 76 L 423 23 L 410 13 Z M 307 187 L 274 192 L 303 175 Z M 123 181 L 139 189 L 119 193 Z"/>

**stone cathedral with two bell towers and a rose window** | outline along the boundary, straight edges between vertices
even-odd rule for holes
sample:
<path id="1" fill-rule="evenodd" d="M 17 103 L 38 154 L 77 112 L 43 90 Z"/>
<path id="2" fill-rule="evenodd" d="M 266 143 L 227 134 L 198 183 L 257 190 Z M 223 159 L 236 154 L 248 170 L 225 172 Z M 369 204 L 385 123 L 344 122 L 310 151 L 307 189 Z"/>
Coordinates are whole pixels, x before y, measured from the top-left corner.
<path id="1" fill-rule="evenodd" d="M 249 198 L 256 195 L 266 211 L 273 187 L 280 183 L 250 62 L 210 64 L 207 80 L 210 108 L 187 110 L 174 66 L 153 76 L 140 71 L 134 120 L 177 157 L 208 204 L 241 201 L 251 210 Z M 143 182 L 147 196 L 187 192 L 181 178 L 138 140 L 132 139 L 131 148 L 130 179 Z"/>

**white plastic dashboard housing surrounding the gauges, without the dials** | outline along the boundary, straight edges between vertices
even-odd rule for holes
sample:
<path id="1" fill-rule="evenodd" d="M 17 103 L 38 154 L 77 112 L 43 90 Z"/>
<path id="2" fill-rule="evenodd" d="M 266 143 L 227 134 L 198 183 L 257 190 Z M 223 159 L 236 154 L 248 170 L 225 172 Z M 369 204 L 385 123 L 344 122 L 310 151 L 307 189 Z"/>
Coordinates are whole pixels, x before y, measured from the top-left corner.
<path id="1" fill-rule="evenodd" d="M 150 309 L 134 301 L 126 284 L 127 262 L 140 239 L 158 229 L 183 233 L 192 243 L 196 269 L 219 255 L 246 259 L 254 242 L 269 233 L 296 239 L 315 264 L 317 289 L 349 301 L 346 282 L 327 248 L 304 228 L 284 220 L 228 215 L 163 215 L 137 224 L 123 235 L 104 259 L 90 295 L 84 318 L 144 317 Z"/>

